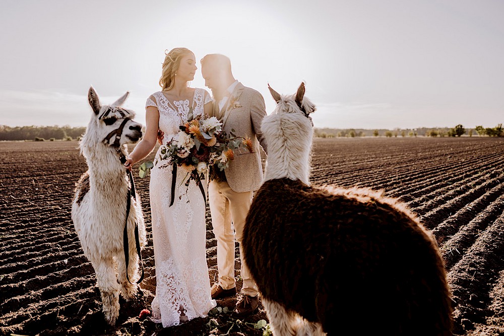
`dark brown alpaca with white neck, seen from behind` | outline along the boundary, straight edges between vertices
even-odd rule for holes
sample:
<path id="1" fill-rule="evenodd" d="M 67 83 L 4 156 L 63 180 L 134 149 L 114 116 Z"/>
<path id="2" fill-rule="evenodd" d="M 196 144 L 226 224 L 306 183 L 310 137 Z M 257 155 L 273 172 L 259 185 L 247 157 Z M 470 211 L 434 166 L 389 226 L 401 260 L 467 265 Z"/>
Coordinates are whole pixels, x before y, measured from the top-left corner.
<path id="1" fill-rule="evenodd" d="M 244 260 L 275 335 L 451 335 L 444 261 L 418 219 L 369 189 L 308 185 L 314 105 L 304 85 L 264 118 L 265 182 Z"/>

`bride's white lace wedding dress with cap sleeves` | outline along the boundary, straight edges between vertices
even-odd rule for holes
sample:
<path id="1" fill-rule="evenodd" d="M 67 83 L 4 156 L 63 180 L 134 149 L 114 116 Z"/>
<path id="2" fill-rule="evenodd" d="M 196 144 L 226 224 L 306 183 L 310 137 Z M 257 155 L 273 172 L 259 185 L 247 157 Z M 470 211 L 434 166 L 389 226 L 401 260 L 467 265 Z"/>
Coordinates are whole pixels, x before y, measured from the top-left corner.
<path id="1" fill-rule="evenodd" d="M 159 128 L 166 144 L 187 120 L 189 100 L 170 102 L 162 92 L 147 99 L 147 106 L 159 110 Z M 194 114 L 203 114 L 203 105 L 211 100 L 204 89 L 195 89 Z M 161 149 L 161 148 L 160 148 Z M 156 158 L 159 157 L 159 151 Z M 177 167 L 174 203 L 170 207 L 172 166 L 151 170 L 150 204 L 154 259 L 156 264 L 156 296 L 152 301 L 152 319 L 163 327 L 180 323 L 180 315 L 191 320 L 205 317 L 216 306 L 210 295 L 210 280 L 205 251 L 205 200 L 199 186 L 185 185 L 188 170 Z M 207 177 L 208 178 L 208 177 Z M 202 180 L 207 191 L 207 181 Z"/>

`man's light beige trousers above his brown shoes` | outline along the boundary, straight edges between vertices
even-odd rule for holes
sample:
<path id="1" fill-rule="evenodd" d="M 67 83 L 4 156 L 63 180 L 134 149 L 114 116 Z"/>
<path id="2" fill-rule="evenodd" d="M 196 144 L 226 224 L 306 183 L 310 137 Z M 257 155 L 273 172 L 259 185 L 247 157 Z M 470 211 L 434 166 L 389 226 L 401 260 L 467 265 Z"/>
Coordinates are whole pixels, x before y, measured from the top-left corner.
<path id="1" fill-rule="evenodd" d="M 241 293 L 256 296 L 258 288 L 243 261 L 241 240 L 245 219 L 252 203 L 252 191 L 235 192 L 226 181 L 213 180 L 208 185 L 210 214 L 217 239 L 217 269 L 219 285 L 223 289 L 236 286 L 234 281 L 235 239 L 239 243 L 241 260 Z M 234 228 L 234 232 L 233 232 Z"/>

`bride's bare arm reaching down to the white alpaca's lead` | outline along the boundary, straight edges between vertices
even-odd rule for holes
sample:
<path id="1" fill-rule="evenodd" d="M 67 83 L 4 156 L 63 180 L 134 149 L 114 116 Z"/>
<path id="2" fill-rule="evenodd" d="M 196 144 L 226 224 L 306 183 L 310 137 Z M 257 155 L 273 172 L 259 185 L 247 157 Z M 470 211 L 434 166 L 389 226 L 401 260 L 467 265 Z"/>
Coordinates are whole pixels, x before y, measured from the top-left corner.
<path id="1" fill-rule="evenodd" d="M 156 146 L 159 128 L 159 110 L 154 106 L 146 108 L 145 135 L 137 144 L 130 156 L 126 158 L 124 166 L 131 168 L 135 163 L 145 158 Z"/>

